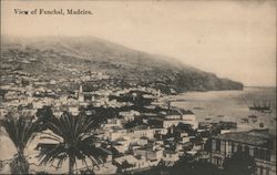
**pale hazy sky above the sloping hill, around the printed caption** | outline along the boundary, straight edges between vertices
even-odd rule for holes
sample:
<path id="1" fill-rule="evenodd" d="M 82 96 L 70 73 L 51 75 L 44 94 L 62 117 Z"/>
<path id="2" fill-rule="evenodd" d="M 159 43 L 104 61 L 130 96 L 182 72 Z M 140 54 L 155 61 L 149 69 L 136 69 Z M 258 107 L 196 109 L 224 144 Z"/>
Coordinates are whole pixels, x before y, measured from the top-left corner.
<path id="1" fill-rule="evenodd" d="M 276 6 L 261 1 L 1 1 L 1 33 L 94 35 L 242 81 L 276 85 Z M 93 16 L 18 16 L 14 9 Z"/>

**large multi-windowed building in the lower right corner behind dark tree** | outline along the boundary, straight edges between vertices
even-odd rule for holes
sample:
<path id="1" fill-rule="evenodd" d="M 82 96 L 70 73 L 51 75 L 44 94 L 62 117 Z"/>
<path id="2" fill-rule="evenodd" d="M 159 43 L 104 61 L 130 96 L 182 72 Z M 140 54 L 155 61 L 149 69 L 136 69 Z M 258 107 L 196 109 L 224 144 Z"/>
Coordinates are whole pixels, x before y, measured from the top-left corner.
<path id="1" fill-rule="evenodd" d="M 209 161 L 223 168 L 224 159 L 239 151 L 255 158 L 256 175 L 276 175 L 276 137 L 265 131 L 225 133 L 213 137 Z"/>

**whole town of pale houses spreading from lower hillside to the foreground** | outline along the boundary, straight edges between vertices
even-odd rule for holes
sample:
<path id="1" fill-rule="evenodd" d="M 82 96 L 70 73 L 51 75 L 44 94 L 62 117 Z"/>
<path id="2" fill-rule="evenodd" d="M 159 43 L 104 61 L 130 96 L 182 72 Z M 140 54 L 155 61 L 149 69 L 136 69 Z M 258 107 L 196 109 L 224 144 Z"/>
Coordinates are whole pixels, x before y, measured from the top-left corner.
<path id="1" fill-rule="evenodd" d="M 177 174 L 186 169 L 198 174 L 222 174 L 228 169 L 226 159 L 236 153 L 254 157 L 257 175 L 276 172 L 276 137 L 266 128 L 238 131 L 235 122 L 199 122 L 192 109 L 172 105 L 175 92 L 164 93 L 137 84 L 119 87 L 114 85 L 119 82 L 111 80 L 110 75 L 88 70 L 68 68 L 74 79 L 50 80 L 43 75 L 33 76 L 17 66 L 2 68 L 1 120 L 40 121 L 41 127 L 49 121 L 74 121 L 81 116 L 98 119 L 99 122 L 92 133 L 84 133 L 93 136 L 90 146 L 101 152 L 98 157 L 75 155 L 76 161 L 68 167 L 66 163 L 62 164 L 62 152 L 49 153 L 57 154 L 55 159 L 48 161 L 51 164 L 39 164 L 38 156 L 45 147 L 57 144 L 55 140 L 68 144 L 66 138 L 61 138 L 49 127 L 40 130 L 28 145 L 28 153 L 24 153 L 30 165 L 28 173 Z M 1 126 L 1 144 L 9 137 L 6 130 Z M 12 157 L 1 157 L 0 173 L 12 173 Z M 199 165 L 204 168 L 192 167 Z"/>

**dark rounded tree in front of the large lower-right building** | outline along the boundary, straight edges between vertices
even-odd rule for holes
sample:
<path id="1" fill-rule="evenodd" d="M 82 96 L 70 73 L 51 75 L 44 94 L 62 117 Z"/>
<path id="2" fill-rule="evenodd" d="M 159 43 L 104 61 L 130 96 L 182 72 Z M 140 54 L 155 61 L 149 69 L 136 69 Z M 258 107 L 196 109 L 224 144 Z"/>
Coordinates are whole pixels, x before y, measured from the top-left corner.
<path id="1" fill-rule="evenodd" d="M 227 157 L 223 164 L 225 175 L 253 175 L 256 163 L 246 152 L 236 152 L 232 157 Z"/>

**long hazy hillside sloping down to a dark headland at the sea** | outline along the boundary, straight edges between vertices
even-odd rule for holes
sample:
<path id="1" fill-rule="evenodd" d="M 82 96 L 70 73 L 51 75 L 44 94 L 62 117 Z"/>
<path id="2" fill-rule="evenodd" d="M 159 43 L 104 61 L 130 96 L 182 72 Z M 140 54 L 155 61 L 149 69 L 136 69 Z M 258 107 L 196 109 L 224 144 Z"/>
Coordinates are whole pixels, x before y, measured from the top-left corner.
<path id="1" fill-rule="evenodd" d="M 9 64 L 7 60 L 13 59 L 12 63 L 20 69 L 50 79 L 68 79 L 71 70 L 90 70 L 106 73 L 122 84 L 151 85 L 165 92 L 170 89 L 176 92 L 243 89 L 239 82 L 219 79 L 172 58 L 92 37 L 4 38 L 1 50 L 2 63 Z"/>

